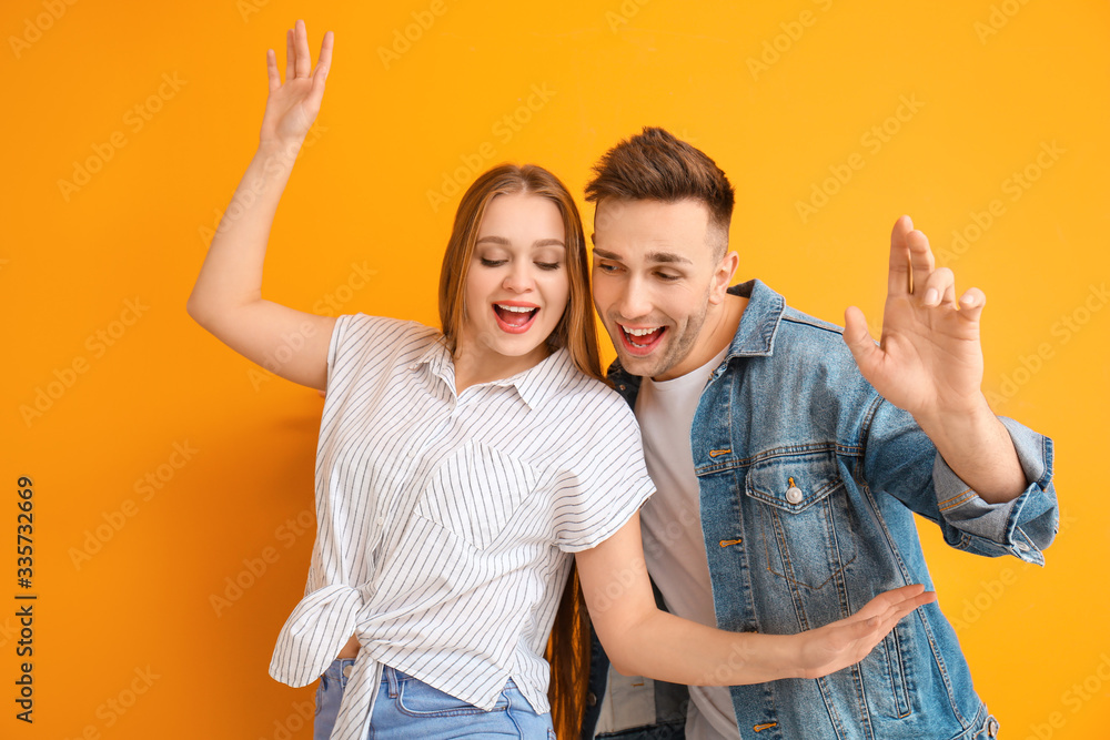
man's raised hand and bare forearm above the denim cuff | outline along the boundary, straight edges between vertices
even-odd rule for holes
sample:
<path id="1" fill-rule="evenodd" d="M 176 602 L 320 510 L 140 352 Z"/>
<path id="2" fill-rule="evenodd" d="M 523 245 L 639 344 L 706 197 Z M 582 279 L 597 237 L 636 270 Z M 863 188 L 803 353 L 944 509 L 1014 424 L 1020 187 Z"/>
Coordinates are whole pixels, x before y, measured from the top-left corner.
<path id="1" fill-rule="evenodd" d="M 936 267 L 929 241 L 900 217 L 890 234 L 890 268 L 879 346 L 862 312 L 845 313 L 844 339 L 860 373 L 891 404 L 912 414 L 948 466 L 985 501 L 1018 497 L 1029 485 L 1006 427 L 982 394 L 979 320 L 986 296 L 956 300 L 955 276 Z"/>

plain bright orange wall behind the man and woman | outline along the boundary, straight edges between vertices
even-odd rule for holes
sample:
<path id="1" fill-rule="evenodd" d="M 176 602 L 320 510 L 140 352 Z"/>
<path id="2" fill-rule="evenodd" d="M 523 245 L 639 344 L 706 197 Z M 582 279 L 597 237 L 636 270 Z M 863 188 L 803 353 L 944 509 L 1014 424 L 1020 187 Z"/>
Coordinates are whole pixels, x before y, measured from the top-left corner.
<path id="1" fill-rule="evenodd" d="M 271 240 L 266 296 L 295 307 L 434 323 L 445 179 L 535 161 L 581 193 L 645 124 L 730 175 L 738 278 L 819 316 L 856 303 L 879 324 L 910 213 L 986 291 L 986 388 L 1054 437 L 1063 511 L 1045 569 L 924 526 L 941 604 L 1002 737 L 1108 737 L 1106 2 L 70 2 L 0 11 L 0 734 L 311 737 L 312 690 L 266 667 L 303 588 L 322 402 L 184 311 L 256 143 L 265 50 L 304 17 L 313 55 L 336 40 Z M 31 726 L 12 701 L 21 475 Z"/>

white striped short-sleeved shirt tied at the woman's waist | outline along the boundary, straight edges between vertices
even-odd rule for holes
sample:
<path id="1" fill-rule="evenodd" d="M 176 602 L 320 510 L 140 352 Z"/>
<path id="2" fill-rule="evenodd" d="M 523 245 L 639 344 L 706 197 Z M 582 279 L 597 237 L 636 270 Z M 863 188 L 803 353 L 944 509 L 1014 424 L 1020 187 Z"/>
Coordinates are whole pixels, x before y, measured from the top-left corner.
<path id="1" fill-rule="evenodd" d="M 342 740 L 366 737 L 383 665 L 483 709 L 512 677 L 547 711 L 543 650 L 569 553 L 653 490 L 628 405 L 566 349 L 456 395 L 437 331 L 341 316 L 309 582 L 270 673 L 305 686 L 357 635 Z"/>

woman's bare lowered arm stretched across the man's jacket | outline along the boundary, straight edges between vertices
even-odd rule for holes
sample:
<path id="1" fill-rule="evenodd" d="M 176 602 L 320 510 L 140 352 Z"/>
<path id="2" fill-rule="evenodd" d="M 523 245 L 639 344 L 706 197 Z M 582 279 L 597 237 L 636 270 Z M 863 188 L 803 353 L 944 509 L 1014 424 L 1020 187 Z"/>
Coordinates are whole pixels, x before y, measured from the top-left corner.
<path id="1" fill-rule="evenodd" d="M 613 666 L 626 676 L 692 686 L 827 676 L 862 660 L 899 619 L 936 600 L 920 585 L 904 586 L 847 619 L 798 635 L 728 632 L 655 606 L 638 514 L 575 558 L 591 621 Z"/>

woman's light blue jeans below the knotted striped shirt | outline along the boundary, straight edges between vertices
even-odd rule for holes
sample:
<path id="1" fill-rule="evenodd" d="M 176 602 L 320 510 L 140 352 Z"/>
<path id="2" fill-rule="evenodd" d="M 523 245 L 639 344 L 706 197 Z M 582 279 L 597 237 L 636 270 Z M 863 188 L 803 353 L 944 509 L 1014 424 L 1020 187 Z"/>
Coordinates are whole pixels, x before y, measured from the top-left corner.
<path id="1" fill-rule="evenodd" d="M 320 677 L 313 740 L 326 740 L 331 736 L 346 688 L 344 669 L 353 665 L 353 660 L 334 660 Z M 555 740 L 555 731 L 551 713 L 535 713 L 513 679 L 505 685 L 494 708 L 485 711 L 385 667 L 371 718 L 370 738 L 446 740 L 461 737 Z"/>

